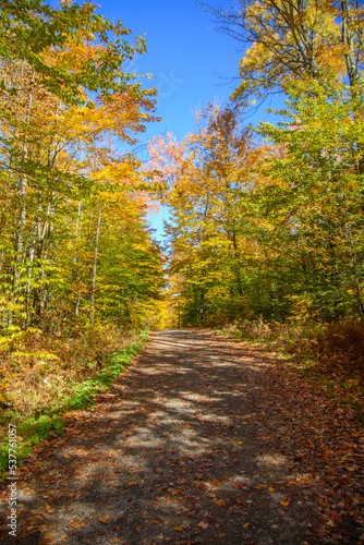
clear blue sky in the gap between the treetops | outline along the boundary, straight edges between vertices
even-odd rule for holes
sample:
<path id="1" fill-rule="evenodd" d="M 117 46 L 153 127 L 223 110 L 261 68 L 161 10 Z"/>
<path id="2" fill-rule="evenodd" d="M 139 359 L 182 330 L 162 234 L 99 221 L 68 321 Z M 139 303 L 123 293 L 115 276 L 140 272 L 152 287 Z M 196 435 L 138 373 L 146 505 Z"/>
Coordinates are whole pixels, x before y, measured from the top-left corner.
<path id="1" fill-rule="evenodd" d="M 135 59 L 133 71 L 157 76 L 150 86 L 158 87 L 157 114 L 162 122 L 150 124 L 142 142 L 167 131 L 182 140 L 194 128 L 193 111 L 217 97 L 229 98 L 236 84 L 233 77 L 238 75 L 242 52 L 236 41 L 216 32 L 211 15 L 197 9 L 194 0 L 98 3 L 104 16 L 113 22 L 120 20 L 133 36 L 146 37 L 147 53 Z M 259 114 L 265 117 L 264 111 Z M 161 210 L 150 218 L 159 240 L 165 217 L 166 210 Z"/>

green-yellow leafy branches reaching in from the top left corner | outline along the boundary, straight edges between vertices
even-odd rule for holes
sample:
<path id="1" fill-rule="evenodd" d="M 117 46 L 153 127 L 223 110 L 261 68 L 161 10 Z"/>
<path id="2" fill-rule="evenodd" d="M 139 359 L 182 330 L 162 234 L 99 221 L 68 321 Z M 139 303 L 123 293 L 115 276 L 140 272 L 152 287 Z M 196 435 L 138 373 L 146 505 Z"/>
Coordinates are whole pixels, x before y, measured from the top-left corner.
<path id="1" fill-rule="evenodd" d="M 97 5 L 82 5 L 64 0 L 56 9 L 44 0 L 0 1 L 0 57 L 9 64 L 19 61 L 33 68 L 41 85 L 64 104 L 85 104 L 84 89 L 112 95 L 124 90 L 141 90 L 135 74 L 124 70 L 134 55 L 145 52 L 143 37 L 131 45 L 124 36 L 131 34 L 120 21 L 112 24 L 95 13 Z M 77 69 L 68 55 L 71 47 L 83 48 Z M 51 55 L 49 55 L 51 52 Z M 61 53 L 54 62 L 54 53 Z M 2 87 L 16 93 L 16 86 L 1 80 Z"/>

